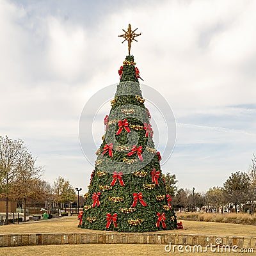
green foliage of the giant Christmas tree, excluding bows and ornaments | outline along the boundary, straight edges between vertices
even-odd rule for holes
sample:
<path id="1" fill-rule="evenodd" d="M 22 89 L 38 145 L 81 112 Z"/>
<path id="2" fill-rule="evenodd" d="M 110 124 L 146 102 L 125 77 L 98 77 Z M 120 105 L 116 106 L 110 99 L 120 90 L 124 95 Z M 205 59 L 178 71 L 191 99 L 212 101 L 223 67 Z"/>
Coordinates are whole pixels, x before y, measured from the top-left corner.
<path id="1" fill-rule="evenodd" d="M 127 56 L 127 61 L 134 61 L 133 56 Z M 138 96 L 141 98 L 138 98 Z M 123 109 L 132 109 L 132 113 L 126 114 Z M 143 125 L 146 122 L 150 123 L 148 119 L 147 111 L 143 103 L 140 84 L 136 78 L 136 72 L 133 65 L 124 65 L 122 79 L 118 84 L 115 93 L 115 102 L 112 104 L 111 111 L 109 113 L 109 121 L 111 120 L 127 120 L 130 125 L 139 125 L 141 130 L 136 130 L 130 127 L 131 132 L 127 133 L 125 129 L 119 135 L 116 135 L 119 127 L 117 122 L 115 124 L 109 124 L 108 130 L 104 135 L 104 140 L 99 148 L 99 156 L 95 164 L 95 173 L 92 178 L 92 182 L 89 186 L 88 198 L 86 198 L 84 205 L 92 205 L 93 193 L 101 193 L 100 205 L 92 207 L 87 211 L 84 210 L 82 228 L 90 228 L 95 230 L 106 230 L 107 220 L 106 215 L 117 214 L 117 228 L 111 223 L 108 230 L 118 230 L 121 232 L 147 232 L 164 230 L 161 223 L 159 227 L 156 227 L 157 212 L 160 214 L 166 214 L 166 229 L 177 228 L 177 220 L 172 209 L 164 209 L 164 205 L 168 205 L 167 199 L 157 200 L 156 196 L 166 196 L 165 184 L 163 182 L 163 175 L 159 164 L 159 159 L 156 152 L 148 152 L 146 148 L 155 148 L 154 141 L 150 136 L 145 137 L 145 130 Z M 104 146 L 106 144 L 113 143 L 113 157 L 108 155 L 108 152 L 102 156 Z M 138 159 L 137 154 L 127 156 L 127 152 L 131 152 L 132 145 L 136 147 L 142 146 L 142 156 L 144 161 Z M 116 150 L 116 147 L 125 146 L 129 150 Z M 127 159 L 134 159 L 136 164 L 127 164 L 123 162 L 124 157 Z M 100 164 L 99 161 L 101 161 Z M 155 185 L 153 189 L 145 189 L 144 184 L 152 184 L 152 169 L 160 171 L 158 186 Z M 104 175 L 97 175 L 97 172 L 106 172 Z M 120 182 L 116 180 L 115 186 L 108 191 L 100 190 L 99 186 L 110 186 L 113 180 L 113 172 L 122 171 L 122 180 L 124 180 L 125 186 L 121 186 Z M 134 172 L 143 171 L 147 172 L 145 177 L 136 177 Z M 175 177 L 172 177 L 175 180 Z M 174 182 L 174 181 L 173 181 Z M 175 183 L 174 183 L 175 184 Z M 136 204 L 136 210 L 134 212 L 123 213 L 120 211 L 120 207 L 129 208 L 133 203 L 133 193 L 142 193 L 143 201 L 147 206 L 143 206 L 140 201 Z M 108 197 L 120 197 L 123 198 L 122 202 L 111 202 Z M 174 218 L 173 218 L 174 217 Z M 97 218 L 95 221 L 92 218 Z M 128 220 L 143 220 L 141 225 L 130 225 Z"/>

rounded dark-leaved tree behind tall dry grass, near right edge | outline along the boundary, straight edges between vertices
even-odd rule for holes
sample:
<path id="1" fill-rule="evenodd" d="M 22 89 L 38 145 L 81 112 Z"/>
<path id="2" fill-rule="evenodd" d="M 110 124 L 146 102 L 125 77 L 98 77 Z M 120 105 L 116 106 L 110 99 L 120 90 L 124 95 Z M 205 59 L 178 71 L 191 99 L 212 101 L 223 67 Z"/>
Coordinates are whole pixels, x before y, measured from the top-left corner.
<path id="1" fill-rule="evenodd" d="M 223 184 L 225 199 L 235 206 L 248 202 L 248 189 L 250 189 L 249 177 L 246 172 L 231 173 L 230 177 Z M 240 207 L 241 208 L 241 207 Z"/>

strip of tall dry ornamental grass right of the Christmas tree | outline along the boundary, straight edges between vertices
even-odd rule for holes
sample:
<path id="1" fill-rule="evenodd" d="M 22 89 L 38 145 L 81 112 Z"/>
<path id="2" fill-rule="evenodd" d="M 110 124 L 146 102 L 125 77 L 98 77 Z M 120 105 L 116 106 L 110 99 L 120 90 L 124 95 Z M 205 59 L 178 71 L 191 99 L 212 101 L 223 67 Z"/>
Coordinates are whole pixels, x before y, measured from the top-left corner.
<path id="1" fill-rule="evenodd" d="M 221 222 L 234 223 L 243 225 L 256 225 L 256 216 L 251 216 L 248 213 L 199 213 L 199 212 L 177 212 L 177 218 L 182 220 L 195 220 L 205 222 Z"/>

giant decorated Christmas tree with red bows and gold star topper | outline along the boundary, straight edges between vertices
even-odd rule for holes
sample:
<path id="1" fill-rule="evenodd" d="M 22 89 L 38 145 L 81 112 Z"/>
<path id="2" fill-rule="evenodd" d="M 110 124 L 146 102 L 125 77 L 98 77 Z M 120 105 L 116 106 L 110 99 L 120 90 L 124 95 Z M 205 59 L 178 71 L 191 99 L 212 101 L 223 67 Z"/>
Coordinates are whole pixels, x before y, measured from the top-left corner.
<path id="1" fill-rule="evenodd" d="M 128 41 L 129 55 L 118 71 L 120 83 L 104 118 L 106 133 L 84 195 L 82 228 L 121 232 L 177 228 L 138 82 L 140 72 L 130 55 L 131 42 L 140 35 L 134 31 L 129 24 L 120 35 Z"/>

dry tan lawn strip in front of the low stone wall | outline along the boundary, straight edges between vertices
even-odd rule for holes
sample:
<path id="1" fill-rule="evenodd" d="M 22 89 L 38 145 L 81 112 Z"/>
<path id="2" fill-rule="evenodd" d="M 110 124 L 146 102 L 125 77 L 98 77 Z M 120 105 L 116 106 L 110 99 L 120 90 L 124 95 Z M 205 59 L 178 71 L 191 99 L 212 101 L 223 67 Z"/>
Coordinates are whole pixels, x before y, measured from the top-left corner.
<path id="1" fill-rule="evenodd" d="M 67 245 L 45 245 L 45 246 L 22 246 L 8 247 L 0 249 L 1 256 L 70 256 L 70 255 L 89 255 L 89 256 L 161 256 L 161 255 L 253 255 L 253 253 L 179 253 L 165 252 L 164 245 L 153 244 L 67 244 Z"/>

